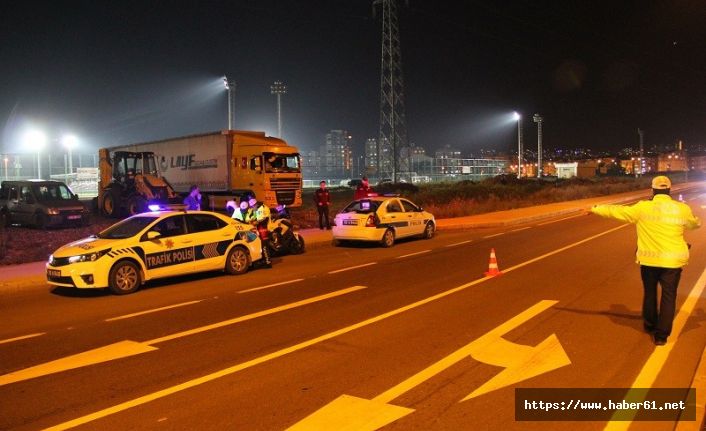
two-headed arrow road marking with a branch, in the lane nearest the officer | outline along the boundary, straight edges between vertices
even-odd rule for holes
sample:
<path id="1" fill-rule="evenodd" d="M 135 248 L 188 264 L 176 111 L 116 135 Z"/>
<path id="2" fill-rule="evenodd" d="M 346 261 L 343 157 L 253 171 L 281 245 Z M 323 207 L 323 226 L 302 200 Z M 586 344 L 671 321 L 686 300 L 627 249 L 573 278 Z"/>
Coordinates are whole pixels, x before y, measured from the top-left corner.
<path id="1" fill-rule="evenodd" d="M 464 398 L 464 401 L 569 365 L 571 361 L 566 356 L 555 335 L 550 336 L 536 347 L 511 343 L 501 338 L 502 335 L 517 328 L 557 302 L 548 300 L 538 302 L 475 341 L 442 358 L 372 400 L 342 395 L 294 424 L 289 430 L 374 431 L 382 428 L 414 411 L 410 408 L 388 404 L 389 402 L 469 356 L 472 356 L 477 361 L 507 368 Z"/>

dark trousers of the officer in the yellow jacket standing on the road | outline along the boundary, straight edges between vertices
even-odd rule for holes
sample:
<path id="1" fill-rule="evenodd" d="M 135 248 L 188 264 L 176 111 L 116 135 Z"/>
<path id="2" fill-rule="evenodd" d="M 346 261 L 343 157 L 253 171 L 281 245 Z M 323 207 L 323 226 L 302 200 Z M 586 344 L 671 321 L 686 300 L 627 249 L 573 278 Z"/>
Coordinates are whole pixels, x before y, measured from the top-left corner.
<path id="1" fill-rule="evenodd" d="M 667 338 L 672 333 L 672 321 L 676 308 L 677 287 L 681 277 L 681 268 L 658 268 L 640 266 L 642 287 L 645 295 L 642 299 L 642 318 L 645 326 L 654 328 L 655 338 Z M 657 308 L 657 284 L 662 288 L 662 295 Z"/>

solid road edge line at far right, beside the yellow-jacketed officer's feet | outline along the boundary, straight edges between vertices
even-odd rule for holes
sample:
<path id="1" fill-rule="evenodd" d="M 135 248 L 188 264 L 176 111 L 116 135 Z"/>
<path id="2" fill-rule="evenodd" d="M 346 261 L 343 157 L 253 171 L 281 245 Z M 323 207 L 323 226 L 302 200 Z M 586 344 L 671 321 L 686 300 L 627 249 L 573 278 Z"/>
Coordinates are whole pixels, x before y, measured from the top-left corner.
<path id="1" fill-rule="evenodd" d="M 650 357 L 647 358 L 647 362 L 645 362 L 645 365 L 643 365 L 642 370 L 640 370 L 640 374 L 637 375 L 637 378 L 635 378 L 635 381 L 632 383 L 631 388 L 652 387 L 655 380 L 657 380 L 657 375 L 660 373 L 660 371 L 662 371 L 664 364 L 667 362 L 667 358 L 669 358 L 669 354 L 672 352 L 674 345 L 677 343 L 677 340 L 679 340 L 679 336 L 684 330 L 684 325 L 686 325 L 686 320 L 694 311 L 694 308 L 696 307 L 696 302 L 699 300 L 699 298 L 701 298 L 701 294 L 704 291 L 704 287 L 706 287 L 706 269 L 704 270 L 704 272 L 701 273 L 701 276 L 696 281 L 694 287 L 691 288 L 689 296 L 686 298 L 684 304 L 682 304 L 681 308 L 679 309 L 679 312 L 674 318 L 674 324 L 672 326 L 672 335 L 669 337 L 667 344 L 665 344 L 664 346 L 655 347 Z M 631 399 L 631 401 L 643 401 L 638 400 L 637 398 L 639 397 L 636 397 L 634 394 L 631 394 L 631 391 L 628 391 L 624 398 L 628 399 L 628 397 L 630 396 L 631 398 L 634 398 L 634 400 Z M 622 420 L 622 418 L 625 418 L 625 413 L 625 411 L 621 411 L 621 420 L 608 422 L 604 429 L 628 429 L 632 421 Z M 634 413 L 632 417 L 634 418 Z"/>

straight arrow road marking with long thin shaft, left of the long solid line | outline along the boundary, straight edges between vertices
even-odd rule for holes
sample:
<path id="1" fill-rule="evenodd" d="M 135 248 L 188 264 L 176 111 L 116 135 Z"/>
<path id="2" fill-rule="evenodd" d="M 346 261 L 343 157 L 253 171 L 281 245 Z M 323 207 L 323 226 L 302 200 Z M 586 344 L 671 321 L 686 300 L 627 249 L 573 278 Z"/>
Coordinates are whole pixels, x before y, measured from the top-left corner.
<path id="1" fill-rule="evenodd" d="M 198 334 L 205 331 L 210 331 L 212 329 L 222 328 L 224 326 L 233 325 L 236 323 L 244 322 L 246 320 L 252 320 L 258 317 L 267 316 L 269 314 L 279 313 L 281 311 L 290 310 L 292 308 L 301 307 L 303 305 L 312 304 L 314 302 L 323 301 L 329 298 L 334 298 L 336 296 L 345 295 L 346 293 L 355 292 L 361 289 L 365 289 L 365 286 L 353 286 L 348 289 L 338 290 L 335 292 L 327 293 L 324 295 L 315 296 L 313 298 L 304 299 L 297 302 L 292 302 L 290 304 L 282 305 L 280 307 L 270 308 L 268 310 L 258 311 L 256 313 L 247 314 L 245 316 L 236 317 L 234 319 L 225 320 L 223 322 L 214 323 L 211 325 L 201 326 L 199 328 L 190 329 L 188 331 L 178 332 L 176 334 L 167 335 L 160 338 L 155 338 L 153 340 L 137 342 L 137 341 L 120 341 L 117 343 L 109 344 L 107 346 L 99 347 L 97 349 L 89 350 L 86 352 L 78 353 L 76 355 L 67 356 L 60 358 L 51 362 L 46 362 L 44 364 L 36 365 L 34 367 L 25 368 L 23 370 L 14 371 L 12 373 L 4 374 L 0 376 L 0 386 L 7 385 L 10 383 L 16 383 L 22 380 L 33 379 L 36 377 L 46 376 L 49 374 L 59 373 L 66 370 L 71 370 L 75 368 L 86 367 L 89 365 L 99 364 L 101 362 L 112 361 L 115 359 L 122 359 L 128 356 L 139 355 L 145 352 L 151 352 L 157 350 L 156 347 L 152 345 L 157 343 L 162 343 L 169 340 L 174 340 L 181 337 L 186 337 L 188 335 Z"/>

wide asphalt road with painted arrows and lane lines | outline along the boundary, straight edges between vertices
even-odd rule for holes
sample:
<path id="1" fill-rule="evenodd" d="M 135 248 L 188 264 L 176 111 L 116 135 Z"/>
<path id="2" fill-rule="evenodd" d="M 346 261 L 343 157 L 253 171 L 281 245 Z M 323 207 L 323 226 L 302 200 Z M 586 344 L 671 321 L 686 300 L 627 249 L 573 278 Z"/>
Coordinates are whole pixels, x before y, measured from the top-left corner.
<path id="1" fill-rule="evenodd" d="M 706 197 L 684 198 L 706 220 Z M 634 228 L 592 215 L 326 245 L 124 297 L 37 286 L 0 303 L 0 429 L 603 429 L 518 421 L 515 388 L 689 387 L 705 237 L 687 235 L 693 311 L 659 348 Z M 491 249 L 503 274 L 486 278 Z"/>

